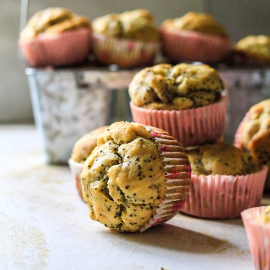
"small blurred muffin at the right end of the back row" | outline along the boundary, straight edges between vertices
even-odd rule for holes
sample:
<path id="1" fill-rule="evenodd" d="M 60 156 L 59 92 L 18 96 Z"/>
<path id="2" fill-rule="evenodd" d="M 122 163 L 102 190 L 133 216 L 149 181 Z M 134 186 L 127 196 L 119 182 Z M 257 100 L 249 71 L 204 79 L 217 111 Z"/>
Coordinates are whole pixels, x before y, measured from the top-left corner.
<path id="1" fill-rule="evenodd" d="M 236 43 L 229 55 L 234 65 L 269 66 L 270 37 L 266 35 L 246 36 Z"/>

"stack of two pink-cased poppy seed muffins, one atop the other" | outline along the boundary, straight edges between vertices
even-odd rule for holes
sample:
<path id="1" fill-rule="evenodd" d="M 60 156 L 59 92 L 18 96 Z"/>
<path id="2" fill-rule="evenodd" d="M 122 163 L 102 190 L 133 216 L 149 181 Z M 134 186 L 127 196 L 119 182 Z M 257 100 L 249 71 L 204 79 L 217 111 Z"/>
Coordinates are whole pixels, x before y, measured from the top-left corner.
<path id="1" fill-rule="evenodd" d="M 135 122 L 163 128 L 186 147 L 192 181 L 182 212 L 193 216 L 239 217 L 244 209 L 259 206 L 263 194 L 263 162 L 217 142 L 225 128 L 223 89 L 216 70 L 201 64 L 146 68 L 129 87 Z"/>

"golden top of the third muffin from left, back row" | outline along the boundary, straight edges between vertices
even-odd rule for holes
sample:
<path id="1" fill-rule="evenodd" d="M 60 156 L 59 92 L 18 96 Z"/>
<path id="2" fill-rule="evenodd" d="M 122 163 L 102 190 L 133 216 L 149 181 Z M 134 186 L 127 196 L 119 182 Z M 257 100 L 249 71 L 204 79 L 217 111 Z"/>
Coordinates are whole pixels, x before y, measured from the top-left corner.
<path id="1" fill-rule="evenodd" d="M 189 30 L 219 37 L 228 37 L 226 29 L 221 26 L 210 14 L 188 12 L 186 15 L 168 19 L 162 27 L 172 30 Z"/>

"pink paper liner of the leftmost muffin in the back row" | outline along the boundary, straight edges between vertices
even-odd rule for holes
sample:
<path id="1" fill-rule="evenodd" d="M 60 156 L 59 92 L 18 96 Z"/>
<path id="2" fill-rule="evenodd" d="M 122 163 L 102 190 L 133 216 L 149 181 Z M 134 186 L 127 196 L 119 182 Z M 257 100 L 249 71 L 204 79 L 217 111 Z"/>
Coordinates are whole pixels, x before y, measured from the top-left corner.
<path id="1" fill-rule="evenodd" d="M 63 66 L 84 61 L 90 51 L 90 28 L 40 34 L 31 41 L 19 40 L 27 62 L 32 67 Z"/>

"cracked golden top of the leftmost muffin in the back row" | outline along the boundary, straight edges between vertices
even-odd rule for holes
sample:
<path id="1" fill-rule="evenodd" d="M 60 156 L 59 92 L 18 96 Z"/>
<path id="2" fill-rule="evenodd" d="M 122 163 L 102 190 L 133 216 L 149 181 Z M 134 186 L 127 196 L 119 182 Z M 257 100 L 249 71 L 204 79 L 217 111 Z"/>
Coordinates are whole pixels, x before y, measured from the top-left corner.
<path id="1" fill-rule="evenodd" d="M 66 30 L 90 27 L 90 21 L 66 8 L 49 7 L 36 12 L 21 31 L 20 39 L 29 40 L 41 33 L 57 34 Z"/>

